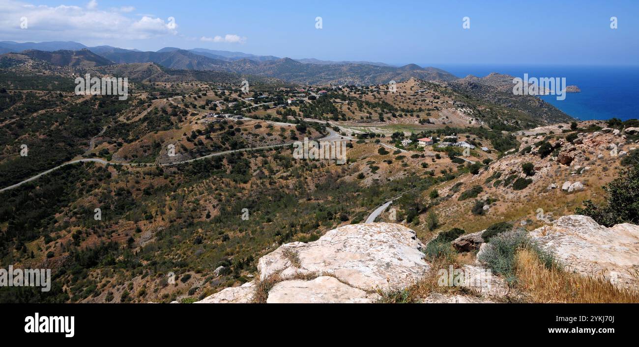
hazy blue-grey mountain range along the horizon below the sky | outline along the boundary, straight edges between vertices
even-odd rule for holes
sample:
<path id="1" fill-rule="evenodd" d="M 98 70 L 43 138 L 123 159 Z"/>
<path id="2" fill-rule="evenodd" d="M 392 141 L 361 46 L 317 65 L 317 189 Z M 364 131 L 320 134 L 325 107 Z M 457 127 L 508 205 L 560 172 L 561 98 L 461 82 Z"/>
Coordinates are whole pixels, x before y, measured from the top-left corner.
<path id="1" fill-rule="evenodd" d="M 365 61 L 295 60 L 272 55 L 253 55 L 206 48 L 183 50 L 166 47 L 157 52 L 142 52 L 111 46 L 86 47 L 77 42 L 1 41 L 0 52 L 21 53 L 50 64 L 63 66 L 155 63 L 173 70 L 223 71 L 239 75 L 277 78 L 298 84 L 387 84 L 391 80 L 401 82 L 412 77 L 442 81 L 457 79 L 447 71 L 422 68 L 416 64 L 396 67 Z M 80 62 L 82 59 L 86 61 Z"/>

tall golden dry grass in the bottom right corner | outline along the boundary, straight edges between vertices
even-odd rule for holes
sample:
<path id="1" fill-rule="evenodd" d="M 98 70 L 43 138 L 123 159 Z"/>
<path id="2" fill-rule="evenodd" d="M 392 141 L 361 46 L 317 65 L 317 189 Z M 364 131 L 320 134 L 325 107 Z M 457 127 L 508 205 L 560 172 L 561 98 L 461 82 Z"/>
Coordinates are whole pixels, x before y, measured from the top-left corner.
<path id="1" fill-rule="evenodd" d="M 555 267 L 548 269 L 527 249 L 516 255 L 518 284 L 535 302 L 621 303 L 639 302 L 639 293 L 613 286 L 601 277 L 586 277 Z"/>

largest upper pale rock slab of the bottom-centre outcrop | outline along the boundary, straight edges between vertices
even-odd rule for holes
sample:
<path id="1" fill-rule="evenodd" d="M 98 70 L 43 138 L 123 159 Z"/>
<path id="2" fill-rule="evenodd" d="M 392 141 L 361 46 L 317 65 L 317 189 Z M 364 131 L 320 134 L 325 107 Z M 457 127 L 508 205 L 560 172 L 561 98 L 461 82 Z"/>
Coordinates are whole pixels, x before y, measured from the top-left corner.
<path id="1" fill-rule="evenodd" d="M 314 242 L 284 244 L 259 259 L 260 279 L 330 274 L 362 290 L 408 286 L 429 269 L 415 232 L 391 223 L 345 225 Z"/>

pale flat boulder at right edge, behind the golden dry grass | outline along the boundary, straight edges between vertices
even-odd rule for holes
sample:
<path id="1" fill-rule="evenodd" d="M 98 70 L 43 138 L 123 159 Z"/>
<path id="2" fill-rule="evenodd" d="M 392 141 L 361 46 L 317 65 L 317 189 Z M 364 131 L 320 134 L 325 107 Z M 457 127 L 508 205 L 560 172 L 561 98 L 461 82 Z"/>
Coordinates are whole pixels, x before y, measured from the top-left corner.
<path id="1" fill-rule="evenodd" d="M 588 216 L 564 216 L 530 232 L 567 269 L 586 276 L 604 276 L 620 286 L 639 286 L 639 226 L 606 228 Z"/>

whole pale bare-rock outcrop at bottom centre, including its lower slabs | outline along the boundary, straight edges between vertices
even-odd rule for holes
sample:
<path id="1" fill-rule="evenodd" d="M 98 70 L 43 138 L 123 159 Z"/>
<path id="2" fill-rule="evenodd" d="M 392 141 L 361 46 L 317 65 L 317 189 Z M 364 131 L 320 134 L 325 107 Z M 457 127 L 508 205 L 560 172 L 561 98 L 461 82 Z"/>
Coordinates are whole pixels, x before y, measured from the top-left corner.
<path id="1" fill-rule="evenodd" d="M 415 232 L 391 223 L 345 225 L 309 243 L 284 244 L 258 261 L 259 279 L 278 281 L 266 302 L 374 302 L 376 290 L 405 288 L 429 270 Z M 201 302 L 250 302 L 256 283 Z"/>

